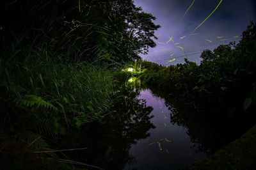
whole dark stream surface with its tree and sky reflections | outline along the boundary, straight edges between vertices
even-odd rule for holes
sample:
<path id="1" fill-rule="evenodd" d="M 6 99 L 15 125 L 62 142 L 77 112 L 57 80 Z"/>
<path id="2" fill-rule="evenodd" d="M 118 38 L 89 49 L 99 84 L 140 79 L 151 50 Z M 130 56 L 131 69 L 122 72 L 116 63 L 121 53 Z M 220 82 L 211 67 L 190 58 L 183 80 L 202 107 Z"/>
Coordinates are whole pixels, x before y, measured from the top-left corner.
<path id="1" fill-rule="evenodd" d="M 118 96 L 101 122 L 74 128 L 60 141 L 61 148 L 87 150 L 68 151 L 61 158 L 103 169 L 178 169 L 223 148 L 251 127 L 247 120 L 193 117 L 182 105 L 161 98 L 167 95 L 159 91 L 153 95 L 150 89 L 121 88 Z"/>

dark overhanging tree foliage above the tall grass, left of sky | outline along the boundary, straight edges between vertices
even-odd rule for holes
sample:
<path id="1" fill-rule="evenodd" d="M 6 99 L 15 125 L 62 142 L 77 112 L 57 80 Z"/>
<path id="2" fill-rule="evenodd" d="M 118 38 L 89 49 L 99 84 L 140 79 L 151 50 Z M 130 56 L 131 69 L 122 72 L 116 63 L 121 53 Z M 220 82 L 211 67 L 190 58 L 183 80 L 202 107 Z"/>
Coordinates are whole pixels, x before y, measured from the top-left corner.
<path id="1" fill-rule="evenodd" d="M 102 63 L 113 68 L 139 59 L 155 47 L 156 18 L 125 1 L 1 1 L 0 45 L 13 40 L 47 49 L 68 61 Z M 15 35 L 15 36 L 13 36 Z M 38 36 L 40 35 L 40 36 Z M 17 38 L 13 38 L 17 37 Z M 23 39 L 22 39 L 23 38 Z"/>

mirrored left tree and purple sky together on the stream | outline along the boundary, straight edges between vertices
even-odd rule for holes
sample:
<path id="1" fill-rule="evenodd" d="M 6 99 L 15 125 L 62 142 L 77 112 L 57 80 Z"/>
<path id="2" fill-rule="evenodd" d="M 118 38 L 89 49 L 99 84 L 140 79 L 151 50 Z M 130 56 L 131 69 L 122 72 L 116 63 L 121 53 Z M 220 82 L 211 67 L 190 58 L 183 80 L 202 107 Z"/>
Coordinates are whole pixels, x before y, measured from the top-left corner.
<path id="1" fill-rule="evenodd" d="M 70 151 L 61 158 L 104 169 L 177 169 L 206 157 L 193 147 L 188 129 L 177 124 L 175 108 L 150 89 L 120 89 L 111 116 L 88 123 L 61 140 Z M 176 123 L 176 124 L 175 124 Z"/>

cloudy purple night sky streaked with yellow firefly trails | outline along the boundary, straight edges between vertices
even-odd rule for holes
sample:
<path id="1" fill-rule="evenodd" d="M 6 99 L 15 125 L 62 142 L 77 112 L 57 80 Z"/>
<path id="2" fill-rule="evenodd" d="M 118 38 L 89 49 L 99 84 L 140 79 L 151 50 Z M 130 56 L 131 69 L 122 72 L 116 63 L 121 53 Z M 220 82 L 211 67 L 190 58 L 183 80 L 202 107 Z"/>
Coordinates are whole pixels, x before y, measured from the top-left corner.
<path id="1" fill-rule="evenodd" d="M 155 33 L 159 38 L 155 41 L 157 46 L 149 49 L 147 55 L 141 54 L 141 58 L 166 66 L 184 63 L 184 58 L 200 63 L 204 49 L 213 50 L 221 44 L 239 42 L 250 20 L 256 20 L 255 0 L 195 0 L 192 3 L 193 0 L 134 0 L 136 6 L 157 18 L 155 24 L 161 25 Z M 172 35 L 173 42 L 168 42 Z M 175 61 L 167 63 L 172 59 Z"/>

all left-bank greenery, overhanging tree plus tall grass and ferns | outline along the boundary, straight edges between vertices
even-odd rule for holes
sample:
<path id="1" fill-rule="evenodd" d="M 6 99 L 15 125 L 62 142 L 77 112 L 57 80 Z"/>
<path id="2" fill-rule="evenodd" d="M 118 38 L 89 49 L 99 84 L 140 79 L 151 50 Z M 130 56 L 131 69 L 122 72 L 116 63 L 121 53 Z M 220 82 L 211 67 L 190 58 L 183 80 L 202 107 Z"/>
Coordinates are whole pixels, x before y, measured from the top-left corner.
<path id="1" fill-rule="evenodd" d="M 0 4 L 0 166 L 75 169 L 60 162 L 79 162 L 52 150 L 67 149 L 72 144 L 63 139 L 113 116 L 118 80 L 128 76 L 113 71 L 156 46 L 160 26 L 131 0 Z"/>

